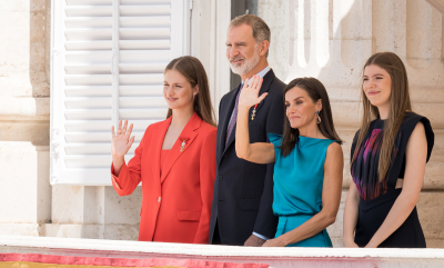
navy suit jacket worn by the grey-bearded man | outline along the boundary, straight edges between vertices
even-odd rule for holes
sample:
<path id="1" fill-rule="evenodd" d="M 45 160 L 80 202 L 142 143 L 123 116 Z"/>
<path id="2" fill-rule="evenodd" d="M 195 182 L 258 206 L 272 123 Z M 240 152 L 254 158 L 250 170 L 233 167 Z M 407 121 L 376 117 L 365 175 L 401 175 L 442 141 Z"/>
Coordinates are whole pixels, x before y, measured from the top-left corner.
<path id="1" fill-rule="evenodd" d="M 238 158 L 235 153 L 235 126 L 225 147 L 226 129 L 239 92 L 230 91 L 222 97 L 219 107 L 216 137 L 216 178 L 210 220 L 209 242 L 212 244 L 218 222 L 223 245 L 243 245 L 258 232 L 274 238 L 278 217 L 273 215 L 274 163 L 260 165 Z M 254 120 L 249 120 L 250 142 L 270 142 L 268 133 L 282 133 L 285 117 L 283 90 L 285 83 L 273 70 L 263 78 L 259 95 L 268 92 L 258 105 Z M 249 117 L 251 118 L 251 108 Z"/>

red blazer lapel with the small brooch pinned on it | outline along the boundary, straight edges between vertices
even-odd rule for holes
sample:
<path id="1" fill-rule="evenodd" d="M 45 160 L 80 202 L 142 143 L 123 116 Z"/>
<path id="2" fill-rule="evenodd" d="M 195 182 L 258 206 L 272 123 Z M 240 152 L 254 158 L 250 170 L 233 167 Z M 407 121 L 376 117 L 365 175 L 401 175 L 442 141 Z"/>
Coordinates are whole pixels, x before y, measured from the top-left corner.
<path id="1" fill-rule="evenodd" d="M 179 139 L 174 142 L 173 147 L 170 150 L 170 153 L 165 159 L 165 163 L 162 168 L 163 171 L 161 176 L 161 183 L 163 182 L 163 180 L 165 180 L 168 173 L 170 172 L 178 158 L 185 153 L 186 149 L 191 146 L 191 143 L 198 136 L 196 129 L 199 129 L 201 123 L 202 119 L 198 116 L 198 113 L 194 112 L 190 121 L 188 121 L 186 126 L 183 128 L 181 135 L 179 136 Z M 183 148 L 182 142 L 185 142 Z"/>

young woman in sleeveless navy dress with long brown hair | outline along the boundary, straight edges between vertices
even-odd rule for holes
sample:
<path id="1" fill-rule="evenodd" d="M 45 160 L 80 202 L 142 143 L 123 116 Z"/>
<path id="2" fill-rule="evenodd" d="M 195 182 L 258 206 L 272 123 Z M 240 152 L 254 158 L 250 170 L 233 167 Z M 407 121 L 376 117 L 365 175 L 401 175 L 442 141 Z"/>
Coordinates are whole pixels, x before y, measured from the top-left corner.
<path id="1" fill-rule="evenodd" d="M 375 53 L 364 66 L 363 118 L 351 151 L 345 247 L 425 248 L 416 211 L 434 133 L 412 111 L 402 60 Z"/>

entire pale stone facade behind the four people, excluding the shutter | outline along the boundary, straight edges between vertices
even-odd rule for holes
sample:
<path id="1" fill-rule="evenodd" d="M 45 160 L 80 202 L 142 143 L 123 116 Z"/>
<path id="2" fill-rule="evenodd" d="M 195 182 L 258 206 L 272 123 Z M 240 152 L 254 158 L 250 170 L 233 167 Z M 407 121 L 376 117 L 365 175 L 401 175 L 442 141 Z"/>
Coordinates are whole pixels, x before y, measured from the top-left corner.
<path id="1" fill-rule="evenodd" d="M 0 234 L 134 240 L 140 188 L 119 197 L 110 186 L 49 183 L 50 2 L 0 2 Z M 193 1 L 191 51 L 209 73 L 215 108 L 230 90 L 229 2 Z M 329 228 L 335 246 L 342 245 L 362 66 L 373 52 L 393 51 L 407 68 L 414 110 L 430 118 L 435 131 L 417 207 L 427 246 L 444 248 L 443 7 L 426 0 L 259 0 L 258 13 L 272 31 L 271 67 L 286 82 L 319 78 L 345 140 L 341 210 Z"/>

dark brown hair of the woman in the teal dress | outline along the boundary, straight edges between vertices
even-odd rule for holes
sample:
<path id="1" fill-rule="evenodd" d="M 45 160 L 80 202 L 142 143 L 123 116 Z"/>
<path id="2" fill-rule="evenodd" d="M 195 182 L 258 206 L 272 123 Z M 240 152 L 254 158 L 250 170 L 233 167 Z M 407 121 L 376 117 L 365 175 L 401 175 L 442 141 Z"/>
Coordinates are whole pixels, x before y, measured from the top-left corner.
<path id="1" fill-rule="evenodd" d="M 336 133 L 336 130 L 334 129 L 332 109 L 330 107 L 330 99 L 324 85 L 322 85 L 320 80 L 312 77 L 296 78 L 285 87 L 284 96 L 289 90 L 295 87 L 305 90 L 309 93 L 310 98 L 312 99 L 313 103 L 315 103 L 317 100 L 321 100 L 322 102 L 322 110 L 320 111 L 321 123 L 319 123 L 317 127 L 321 133 L 325 138 L 335 140 L 342 145 L 342 140 Z M 299 140 L 299 129 L 292 128 L 290 126 L 290 120 L 284 120 L 284 133 L 282 137 L 282 146 L 281 146 L 281 151 L 284 157 L 290 155 L 290 152 L 296 146 L 297 140 Z"/>

